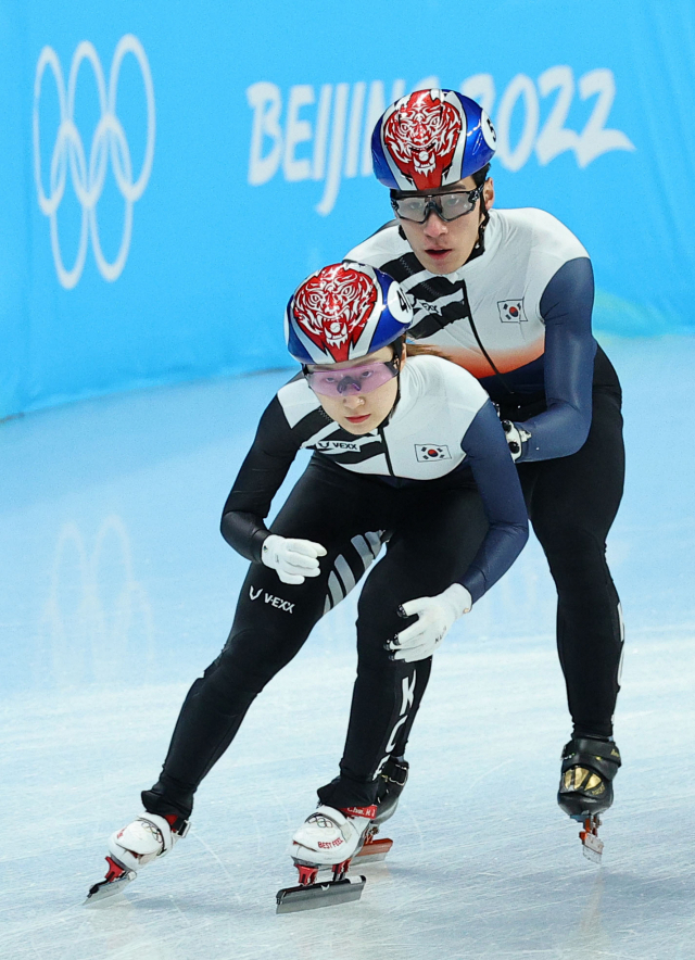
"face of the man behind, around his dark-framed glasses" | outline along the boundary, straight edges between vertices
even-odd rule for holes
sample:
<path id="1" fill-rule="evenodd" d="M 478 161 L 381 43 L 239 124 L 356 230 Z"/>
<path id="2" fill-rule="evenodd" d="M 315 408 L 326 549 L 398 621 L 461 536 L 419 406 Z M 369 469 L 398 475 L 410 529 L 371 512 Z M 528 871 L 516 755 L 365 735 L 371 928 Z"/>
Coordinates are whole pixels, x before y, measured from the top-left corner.
<path id="1" fill-rule="evenodd" d="M 417 197 L 426 193 L 427 195 L 440 195 L 475 189 L 473 178 L 466 177 L 453 186 L 432 191 L 416 190 L 407 195 Z M 491 179 L 485 180 L 482 195 L 485 207 L 490 210 L 495 199 L 494 185 Z M 478 200 L 470 213 L 453 220 L 443 220 L 435 211 L 430 210 L 424 224 L 416 224 L 405 217 L 399 217 L 399 223 L 413 248 L 413 252 L 427 270 L 431 274 L 453 274 L 454 270 L 463 267 L 472 253 L 473 247 L 478 242 L 478 227 L 482 216 L 480 200 Z"/>

